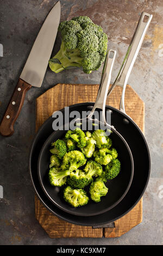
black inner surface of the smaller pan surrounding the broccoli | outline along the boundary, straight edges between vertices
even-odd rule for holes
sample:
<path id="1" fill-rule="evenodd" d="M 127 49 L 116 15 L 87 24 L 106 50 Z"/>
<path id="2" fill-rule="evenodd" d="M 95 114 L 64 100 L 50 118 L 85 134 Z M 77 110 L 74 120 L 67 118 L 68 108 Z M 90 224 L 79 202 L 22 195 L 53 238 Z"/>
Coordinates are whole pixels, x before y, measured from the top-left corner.
<path id="1" fill-rule="evenodd" d="M 131 155 L 131 151 L 123 137 L 116 131 L 113 131 L 110 135 L 112 145 L 114 145 L 119 153 L 118 159 L 121 162 L 121 172 L 116 178 L 106 182 L 105 185 L 108 187 L 108 193 L 106 196 L 102 197 L 102 200 L 99 203 L 95 203 L 90 199 L 87 205 L 79 208 L 73 208 L 63 199 L 63 190 L 65 186 L 54 187 L 49 183 L 48 180 L 49 158 L 51 155 L 49 154 L 49 148 L 52 142 L 56 141 L 58 138 L 61 139 L 64 137 L 64 135 L 65 131 L 53 132 L 52 135 L 47 138 L 40 151 L 38 161 L 38 176 L 46 196 L 61 210 L 78 216 L 93 216 L 102 214 L 120 203 L 129 190 L 134 174 L 133 156 Z M 84 189 L 89 195 L 89 187 Z"/>

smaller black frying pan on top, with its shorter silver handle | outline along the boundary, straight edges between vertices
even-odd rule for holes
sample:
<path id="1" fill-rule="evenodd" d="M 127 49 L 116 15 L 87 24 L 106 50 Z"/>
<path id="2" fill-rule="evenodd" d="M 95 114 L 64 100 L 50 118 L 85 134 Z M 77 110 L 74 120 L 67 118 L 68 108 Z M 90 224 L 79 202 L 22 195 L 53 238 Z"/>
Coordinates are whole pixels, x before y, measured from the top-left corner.
<path id="1" fill-rule="evenodd" d="M 112 139 L 113 147 L 116 148 L 118 151 L 118 159 L 121 162 L 121 172 L 115 179 L 108 180 L 106 182 L 106 186 L 108 187 L 108 193 L 106 194 L 106 196 L 103 197 L 101 202 L 99 202 L 98 204 L 93 202 L 92 200 L 89 200 L 89 203 L 87 205 L 82 206 L 80 208 L 73 208 L 70 205 L 68 205 L 63 199 L 64 186 L 53 187 L 51 184 L 49 184 L 49 148 L 51 147 L 52 142 L 57 141 L 57 139 L 64 138 L 66 133 L 64 126 L 62 127 L 62 129 L 60 127 L 59 130 L 54 131 L 52 135 L 48 137 L 46 142 L 43 144 L 43 147 L 39 155 L 38 175 L 43 191 L 45 192 L 46 196 L 56 206 L 70 214 L 78 216 L 93 216 L 102 214 L 103 212 L 110 210 L 115 205 L 121 202 L 121 200 L 129 190 L 131 181 L 133 179 L 134 163 L 128 144 L 126 143 L 125 139 L 120 135 L 120 133 L 118 133 L 110 125 L 106 124 L 105 121 L 105 102 L 108 93 L 108 88 L 110 85 L 111 71 L 112 66 L 114 64 L 115 56 L 116 51 L 109 50 L 107 52 L 102 72 L 101 84 L 99 86 L 95 105 L 87 118 L 77 120 L 77 123 L 80 123 L 80 126 L 86 126 L 87 128 L 93 121 L 94 125 L 92 126 L 91 132 L 97 129 L 97 125 L 100 126 L 100 129 L 102 130 L 106 130 L 108 128 L 112 131 L 110 137 Z M 95 113 L 95 109 L 97 107 L 102 109 L 101 122 L 92 119 L 92 116 Z M 87 194 L 89 194 L 89 188 L 87 188 Z"/>

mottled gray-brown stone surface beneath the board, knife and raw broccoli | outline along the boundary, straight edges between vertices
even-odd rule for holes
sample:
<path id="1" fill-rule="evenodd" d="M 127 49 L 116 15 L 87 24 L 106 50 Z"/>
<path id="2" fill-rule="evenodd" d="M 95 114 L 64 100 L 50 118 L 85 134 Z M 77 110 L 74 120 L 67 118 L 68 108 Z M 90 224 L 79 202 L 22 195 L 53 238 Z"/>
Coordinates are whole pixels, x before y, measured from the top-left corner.
<path id="1" fill-rule="evenodd" d="M 42 22 L 55 0 L 0 0 L 0 119 L 8 105 Z M 108 34 L 109 47 L 117 50 L 112 81 L 142 11 L 153 14 L 129 84 L 145 102 L 145 136 L 152 157 L 149 184 L 143 196 L 143 222 L 115 239 L 49 239 L 35 220 L 34 188 L 28 173 L 29 147 L 35 134 L 35 99 L 57 83 L 99 83 L 102 68 L 86 75 L 80 69 L 54 74 L 47 69 L 41 88 L 29 90 L 15 133 L 0 137 L 0 245 L 161 245 L 162 244 L 162 88 L 163 2 L 159 0 L 61 0 L 61 21 L 87 15 Z M 54 45 L 58 50 L 60 38 Z"/>

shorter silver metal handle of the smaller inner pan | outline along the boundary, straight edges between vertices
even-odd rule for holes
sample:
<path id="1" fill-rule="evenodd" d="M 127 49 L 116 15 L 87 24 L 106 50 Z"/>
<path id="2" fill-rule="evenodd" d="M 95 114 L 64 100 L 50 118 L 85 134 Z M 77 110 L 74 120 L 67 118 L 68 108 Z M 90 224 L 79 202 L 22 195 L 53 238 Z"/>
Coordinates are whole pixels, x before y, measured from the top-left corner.
<path id="1" fill-rule="evenodd" d="M 105 121 L 105 105 L 106 105 L 106 98 L 108 94 L 108 89 L 110 86 L 110 80 L 111 80 L 111 72 L 112 67 L 114 65 L 116 57 L 116 51 L 115 50 L 108 50 L 105 57 L 105 63 L 102 71 L 102 77 L 101 82 L 99 84 L 98 94 L 96 97 L 95 105 L 92 108 L 92 111 L 87 116 L 87 118 L 91 118 L 93 113 L 95 112 L 96 108 L 102 109 L 102 122 L 106 123 Z"/>

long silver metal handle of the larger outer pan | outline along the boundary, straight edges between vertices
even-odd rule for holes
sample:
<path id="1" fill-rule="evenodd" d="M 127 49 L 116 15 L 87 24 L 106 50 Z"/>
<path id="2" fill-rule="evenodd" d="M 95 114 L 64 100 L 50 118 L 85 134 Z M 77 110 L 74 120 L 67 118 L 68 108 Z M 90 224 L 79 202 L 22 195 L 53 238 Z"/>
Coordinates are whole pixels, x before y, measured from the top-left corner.
<path id="1" fill-rule="evenodd" d="M 133 68 L 133 65 L 135 63 L 137 54 L 139 53 L 143 39 L 145 38 L 147 29 L 149 27 L 149 23 L 151 22 L 152 17 L 153 17 L 152 14 L 148 14 L 145 12 L 141 14 L 141 17 L 139 22 L 137 23 L 137 27 L 135 29 L 133 38 L 131 39 L 130 45 L 128 47 L 126 56 L 123 59 L 121 69 L 116 77 L 115 82 L 112 84 L 112 86 L 108 90 L 108 96 L 109 96 L 110 93 L 112 92 L 112 89 L 114 89 L 116 85 L 121 86 L 123 88 L 121 101 L 120 101 L 120 111 L 122 111 L 123 113 L 126 113 L 124 108 L 124 95 L 125 95 L 125 90 L 127 86 L 127 81 L 128 81 L 130 72 Z"/>

